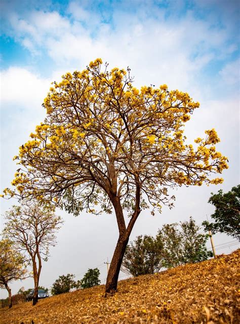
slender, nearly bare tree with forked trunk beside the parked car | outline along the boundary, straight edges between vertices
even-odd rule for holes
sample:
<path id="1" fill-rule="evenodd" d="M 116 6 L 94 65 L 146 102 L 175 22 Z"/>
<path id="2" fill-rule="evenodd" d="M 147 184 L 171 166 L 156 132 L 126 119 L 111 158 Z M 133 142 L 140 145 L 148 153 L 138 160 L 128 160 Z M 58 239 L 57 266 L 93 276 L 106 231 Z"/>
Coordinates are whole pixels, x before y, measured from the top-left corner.
<path id="1" fill-rule="evenodd" d="M 34 280 L 32 303 L 35 305 L 42 259 L 48 260 L 49 247 L 56 244 L 55 233 L 63 222 L 50 205 L 29 200 L 23 201 L 21 206 L 13 206 L 5 213 L 5 218 L 4 236 L 15 242 L 31 263 Z"/>

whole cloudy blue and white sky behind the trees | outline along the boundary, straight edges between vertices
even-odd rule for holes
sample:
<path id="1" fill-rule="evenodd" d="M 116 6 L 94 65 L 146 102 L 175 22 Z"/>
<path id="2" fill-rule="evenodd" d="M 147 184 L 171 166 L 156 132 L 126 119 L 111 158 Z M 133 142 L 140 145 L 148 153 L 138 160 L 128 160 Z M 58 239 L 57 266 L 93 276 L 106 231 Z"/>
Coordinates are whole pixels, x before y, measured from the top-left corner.
<path id="1" fill-rule="evenodd" d="M 166 83 L 188 92 L 201 103 L 186 124 L 188 142 L 215 128 L 221 138 L 218 150 L 229 159 L 222 185 L 175 190 L 175 208 L 164 207 L 155 217 L 142 212 L 131 240 L 155 235 L 163 224 L 190 215 L 201 224 L 214 210 L 208 204 L 210 193 L 239 184 L 237 0 L 2 0 L 0 11 L 2 189 L 10 186 L 17 169 L 12 158 L 19 146 L 45 118 L 41 105 L 51 82 L 67 71 L 84 69 L 97 57 L 110 67 L 130 66 L 135 87 Z M 14 203 L 2 199 L 1 213 Z M 67 273 L 81 279 L 95 267 L 104 283 L 104 262 L 111 259 L 118 235 L 114 215 L 83 213 L 74 218 L 58 213 L 65 224 L 43 265 L 40 284 L 50 287 Z M 3 228 L 3 217 L 0 224 Z M 226 235 L 215 235 L 214 240 L 219 254 L 237 247 Z M 32 279 L 13 283 L 12 292 L 21 286 L 32 287 Z M 0 294 L 7 295 L 4 290 Z"/>

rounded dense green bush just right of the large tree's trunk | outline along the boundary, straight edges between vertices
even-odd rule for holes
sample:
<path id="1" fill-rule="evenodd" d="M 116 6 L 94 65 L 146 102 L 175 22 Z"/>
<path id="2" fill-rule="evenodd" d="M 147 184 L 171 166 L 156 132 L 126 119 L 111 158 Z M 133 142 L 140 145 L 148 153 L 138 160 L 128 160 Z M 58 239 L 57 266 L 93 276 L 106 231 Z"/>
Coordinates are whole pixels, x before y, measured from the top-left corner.
<path id="1" fill-rule="evenodd" d="M 127 245 L 122 271 L 134 277 L 158 272 L 162 265 L 163 242 L 152 236 L 140 235 Z"/>

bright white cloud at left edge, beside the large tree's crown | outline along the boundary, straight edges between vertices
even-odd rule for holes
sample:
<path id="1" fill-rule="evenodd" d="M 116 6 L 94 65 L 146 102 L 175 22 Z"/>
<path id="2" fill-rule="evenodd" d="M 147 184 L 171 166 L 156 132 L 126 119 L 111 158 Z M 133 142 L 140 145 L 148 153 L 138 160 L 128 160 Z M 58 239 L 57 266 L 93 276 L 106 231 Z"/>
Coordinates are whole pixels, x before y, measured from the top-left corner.
<path id="1" fill-rule="evenodd" d="M 1 152 L 2 165 L 7 165 L 2 175 L 2 187 L 9 186 L 15 163 L 12 157 L 18 147 L 29 139 L 35 126 L 44 121 L 46 111 L 42 107 L 50 88 L 50 81 L 36 76 L 26 68 L 12 66 L 1 76 Z"/>

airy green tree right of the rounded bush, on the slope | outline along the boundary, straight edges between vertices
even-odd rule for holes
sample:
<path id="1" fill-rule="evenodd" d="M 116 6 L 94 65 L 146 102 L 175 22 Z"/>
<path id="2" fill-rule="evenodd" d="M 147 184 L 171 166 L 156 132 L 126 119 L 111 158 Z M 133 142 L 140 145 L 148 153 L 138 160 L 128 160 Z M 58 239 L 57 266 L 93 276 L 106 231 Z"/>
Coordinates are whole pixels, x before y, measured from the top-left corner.
<path id="1" fill-rule="evenodd" d="M 180 228 L 174 223 L 165 224 L 158 230 L 156 241 L 163 244 L 161 256 L 166 268 L 204 261 L 213 256 L 206 246 L 208 235 L 201 234 L 200 229 L 190 218 L 188 222 L 180 222 Z"/>

